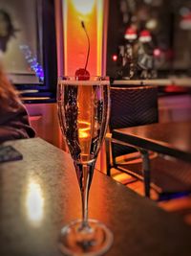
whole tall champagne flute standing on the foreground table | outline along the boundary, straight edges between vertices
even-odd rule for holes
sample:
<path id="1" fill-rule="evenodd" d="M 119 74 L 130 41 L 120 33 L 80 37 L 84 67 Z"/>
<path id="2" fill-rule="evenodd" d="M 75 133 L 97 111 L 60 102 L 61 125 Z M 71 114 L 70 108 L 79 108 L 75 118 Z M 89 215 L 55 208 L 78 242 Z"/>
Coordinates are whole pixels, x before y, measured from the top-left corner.
<path id="1" fill-rule="evenodd" d="M 113 234 L 101 222 L 88 219 L 88 198 L 97 154 L 106 133 L 110 90 L 108 77 L 63 77 L 58 81 L 59 124 L 80 188 L 82 220 L 61 230 L 60 249 L 66 255 L 102 255 L 113 243 Z"/>

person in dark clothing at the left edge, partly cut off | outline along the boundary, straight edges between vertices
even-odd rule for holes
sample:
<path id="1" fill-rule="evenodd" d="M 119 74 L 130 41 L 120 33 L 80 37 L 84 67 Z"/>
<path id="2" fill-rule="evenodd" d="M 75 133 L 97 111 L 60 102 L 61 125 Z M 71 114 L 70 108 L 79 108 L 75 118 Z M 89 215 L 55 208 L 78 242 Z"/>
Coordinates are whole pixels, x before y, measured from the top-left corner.
<path id="1" fill-rule="evenodd" d="M 34 136 L 27 110 L 0 66 L 0 143 Z"/>

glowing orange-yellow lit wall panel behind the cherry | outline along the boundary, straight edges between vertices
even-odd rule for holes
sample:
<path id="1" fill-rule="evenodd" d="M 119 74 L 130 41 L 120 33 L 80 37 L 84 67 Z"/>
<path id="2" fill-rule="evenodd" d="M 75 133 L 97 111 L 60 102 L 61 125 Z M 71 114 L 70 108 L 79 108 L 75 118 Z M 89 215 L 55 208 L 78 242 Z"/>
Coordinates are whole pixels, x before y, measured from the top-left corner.
<path id="1" fill-rule="evenodd" d="M 90 37 L 88 71 L 101 74 L 103 0 L 63 0 L 64 25 L 64 74 L 74 75 L 76 69 L 84 68 L 88 42 L 81 21 L 84 21 Z"/>

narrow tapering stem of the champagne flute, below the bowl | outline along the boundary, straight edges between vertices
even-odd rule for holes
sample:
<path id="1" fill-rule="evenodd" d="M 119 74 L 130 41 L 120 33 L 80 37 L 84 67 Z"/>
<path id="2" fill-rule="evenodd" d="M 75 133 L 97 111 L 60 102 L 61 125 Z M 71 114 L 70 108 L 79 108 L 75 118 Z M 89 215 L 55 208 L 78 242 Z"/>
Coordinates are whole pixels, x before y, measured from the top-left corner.
<path id="1" fill-rule="evenodd" d="M 81 192 L 81 202 L 82 202 L 82 226 L 81 228 L 87 228 L 89 227 L 88 224 L 88 198 L 89 198 L 89 191 L 90 186 L 92 183 L 92 178 L 94 175 L 94 169 L 95 169 L 95 163 L 94 161 L 91 164 L 75 164 L 75 170 L 77 179 L 79 182 L 79 188 Z"/>

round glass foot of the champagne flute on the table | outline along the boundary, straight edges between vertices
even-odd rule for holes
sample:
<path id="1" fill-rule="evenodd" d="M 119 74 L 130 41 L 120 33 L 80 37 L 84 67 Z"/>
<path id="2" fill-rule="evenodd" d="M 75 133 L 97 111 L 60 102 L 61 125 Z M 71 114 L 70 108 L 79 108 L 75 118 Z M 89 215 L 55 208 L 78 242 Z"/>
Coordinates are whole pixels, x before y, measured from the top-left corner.
<path id="1" fill-rule="evenodd" d="M 105 253 L 113 243 L 113 234 L 101 222 L 88 220 L 72 221 L 61 230 L 59 247 L 65 255 L 97 256 Z"/>

